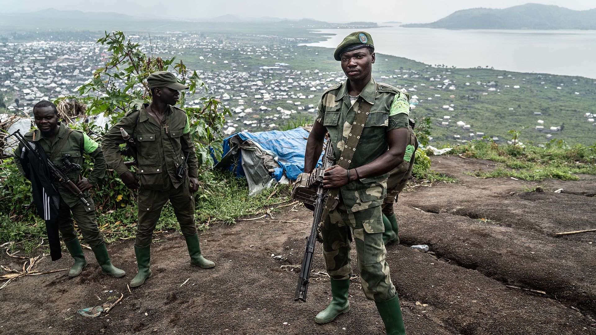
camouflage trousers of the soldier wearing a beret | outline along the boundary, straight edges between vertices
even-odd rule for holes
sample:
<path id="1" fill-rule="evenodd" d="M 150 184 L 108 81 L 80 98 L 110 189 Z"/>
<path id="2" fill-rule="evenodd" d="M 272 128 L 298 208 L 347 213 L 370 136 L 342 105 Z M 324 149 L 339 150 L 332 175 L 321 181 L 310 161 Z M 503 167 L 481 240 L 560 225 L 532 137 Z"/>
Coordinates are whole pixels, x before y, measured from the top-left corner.
<path id="1" fill-rule="evenodd" d="M 321 228 L 323 256 L 329 276 L 334 280 L 352 277 L 350 250 L 353 237 L 362 290 L 375 302 L 387 301 L 396 294 L 389 276 L 383 231 L 381 206 L 347 213 L 343 202 L 329 213 Z"/>

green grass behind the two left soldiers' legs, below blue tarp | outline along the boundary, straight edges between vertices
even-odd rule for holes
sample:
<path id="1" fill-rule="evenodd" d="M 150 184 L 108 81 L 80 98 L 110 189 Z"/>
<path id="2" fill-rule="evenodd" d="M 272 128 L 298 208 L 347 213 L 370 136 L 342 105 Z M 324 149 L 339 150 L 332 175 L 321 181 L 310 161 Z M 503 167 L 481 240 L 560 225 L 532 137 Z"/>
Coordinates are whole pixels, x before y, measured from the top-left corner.
<path id="1" fill-rule="evenodd" d="M 240 216 L 265 213 L 267 210 L 275 212 L 278 204 L 290 200 L 290 186 L 281 184 L 249 197 L 246 179 L 236 178 L 230 172 L 216 170 L 205 173 L 200 182 L 202 192 L 196 194 L 196 221 L 200 230 L 209 229 L 214 224 L 234 224 L 234 218 Z M 275 194 L 271 196 L 273 192 Z M 98 227 L 107 243 L 134 237 L 136 204 L 106 213 L 98 210 L 96 213 Z M 179 229 L 172 206 L 166 204 L 157 222 L 156 231 L 171 232 Z M 159 235 L 156 237 L 159 238 Z M 20 220 L 4 213 L 0 215 L 0 244 L 13 242 L 4 248 L 8 247 L 11 252 L 24 250 L 29 253 L 40 246 L 42 239 L 44 244 L 41 247 L 47 249 L 45 224 L 41 219 Z"/>

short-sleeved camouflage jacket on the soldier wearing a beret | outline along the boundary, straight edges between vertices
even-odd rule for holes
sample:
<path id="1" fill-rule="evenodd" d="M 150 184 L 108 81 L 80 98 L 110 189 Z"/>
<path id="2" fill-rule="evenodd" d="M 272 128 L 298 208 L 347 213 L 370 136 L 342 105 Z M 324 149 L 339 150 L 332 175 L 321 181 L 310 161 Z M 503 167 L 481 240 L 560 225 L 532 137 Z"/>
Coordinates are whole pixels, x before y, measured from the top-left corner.
<path id="1" fill-rule="evenodd" d="M 327 128 L 336 159 L 342 155 L 356 117 L 356 110 L 362 100 L 373 106 L 350 163 L 350 169 L 373 162 L 389 149 L 386 141 L 387 131 L 408 128 L 409 98 L 399 89 L 384 83 L 377 85 L 375 80 L 371 79 L 352 105 L 347 82 L 331 86 L 321 97 L 316 120 Z M 353 213 L 382 204 L 387 191 L 387 176 L 389 173 L 362 178 L 343 186 L 340 194 L 347 212 Z"/>

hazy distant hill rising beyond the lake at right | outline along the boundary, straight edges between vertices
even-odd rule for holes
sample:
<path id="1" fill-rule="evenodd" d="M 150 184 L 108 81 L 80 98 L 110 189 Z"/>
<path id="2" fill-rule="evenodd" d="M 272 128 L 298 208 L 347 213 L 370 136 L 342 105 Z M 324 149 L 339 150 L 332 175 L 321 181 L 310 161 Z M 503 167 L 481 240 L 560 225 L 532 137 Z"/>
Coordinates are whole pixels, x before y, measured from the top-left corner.
<path id="1" fill-rule="evenodd" d="M 525 4 L 495 10 L 473 8 L 457 11 L 433 23 L 402 27 L 445 29 L 596 29 L 596 8 L 575 11 L 554 5 Z"/>

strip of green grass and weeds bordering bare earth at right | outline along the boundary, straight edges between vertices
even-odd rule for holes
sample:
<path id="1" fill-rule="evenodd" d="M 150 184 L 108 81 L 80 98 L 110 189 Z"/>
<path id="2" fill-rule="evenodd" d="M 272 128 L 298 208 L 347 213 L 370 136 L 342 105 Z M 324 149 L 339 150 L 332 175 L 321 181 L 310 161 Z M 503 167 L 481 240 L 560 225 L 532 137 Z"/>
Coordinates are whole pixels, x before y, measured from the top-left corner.
<path id="1" fill-rule="evenodd" d="M 450 154 L 487 159 L 500 163 L 492 171 L 476 170 L 468 174 L 479 178 L 517 178 L 542 181 L 545 178 L 579 180 L 578 174 L 596 175 L 596 146 L 567 145 L 551 141 L 544 146 L 496 144 L 471 141 L 455 147 Z"/>

